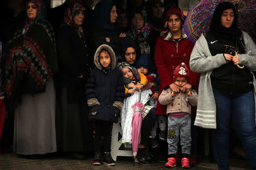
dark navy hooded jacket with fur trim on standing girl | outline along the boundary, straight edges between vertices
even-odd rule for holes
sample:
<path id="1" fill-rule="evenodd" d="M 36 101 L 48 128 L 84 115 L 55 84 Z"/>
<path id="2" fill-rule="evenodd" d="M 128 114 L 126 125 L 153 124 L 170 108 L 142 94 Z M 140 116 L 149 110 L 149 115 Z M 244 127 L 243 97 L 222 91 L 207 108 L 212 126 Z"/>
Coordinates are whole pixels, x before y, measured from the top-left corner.
<path id="1" fill-rule="evenodd" d="M 111 57 L 110 69 L 102 68 L 98 59 L 101 50 L 105 48 Z M 94 55 L 95 68 L 90 73 L 90 78 L 86 84 L 86 97 L 89 111 L 89 119 L 106 122 L 118 122 L 119 110 L 123 106 L 123 87 L 122 72 L 116 67 L 115 53 L 106 44 L 100 45 Z"/>

